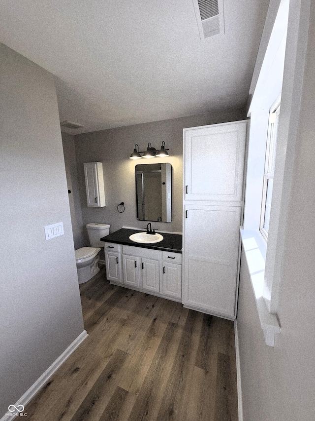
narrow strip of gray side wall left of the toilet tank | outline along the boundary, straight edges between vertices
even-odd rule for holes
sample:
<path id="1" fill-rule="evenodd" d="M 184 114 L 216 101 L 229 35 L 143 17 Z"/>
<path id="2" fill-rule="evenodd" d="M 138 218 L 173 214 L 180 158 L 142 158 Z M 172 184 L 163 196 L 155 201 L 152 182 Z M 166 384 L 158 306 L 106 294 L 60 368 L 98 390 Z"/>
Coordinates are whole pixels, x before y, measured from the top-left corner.
<path id="1" fill-rule="evenodd" d="M 75 158 L 74 136 L 62 133 L 63 156 L 68 193 L 74 248 L 78 249 L 88 244 L 88 238 L 83 230 L 80 192 L 78 185 L 77 161 Z"/>

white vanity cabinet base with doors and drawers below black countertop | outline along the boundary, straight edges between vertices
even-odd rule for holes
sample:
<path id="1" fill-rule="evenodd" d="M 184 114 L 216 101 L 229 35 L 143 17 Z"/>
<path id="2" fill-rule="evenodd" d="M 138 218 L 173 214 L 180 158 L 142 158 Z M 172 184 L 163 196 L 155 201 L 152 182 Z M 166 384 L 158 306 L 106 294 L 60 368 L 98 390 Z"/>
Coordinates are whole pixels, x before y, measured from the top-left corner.
<path id="1" fill-rule="evenodd" d="M 115 243 L 104 245 L 111 283 L 182 301 L 182 254 Z"/>

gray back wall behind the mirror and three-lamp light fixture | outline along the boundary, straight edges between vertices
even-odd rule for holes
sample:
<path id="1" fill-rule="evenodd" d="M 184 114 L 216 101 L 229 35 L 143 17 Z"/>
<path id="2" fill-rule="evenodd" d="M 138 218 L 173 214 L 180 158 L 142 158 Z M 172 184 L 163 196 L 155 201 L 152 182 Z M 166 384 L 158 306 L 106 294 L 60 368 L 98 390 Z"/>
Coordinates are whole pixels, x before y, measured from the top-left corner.
<path id="1" fill-rule="evenodd" d="M 183 128 L 244 118 L 246 118 L 244 110 L 223 110 L 75 136 L 83 224 L 89 222 L 110 224 L 111 232 L 119 230 L 122 226 L 146 227 L 145 221 L 141 222 L 136 218 L 134 167 L 149 162 L 145 159 L 132 160 L 129 156 L 136 143 L 140 151 L 145 151 L 148 142 L 158 149 L 164 140 L 166 147 L 169 148 L 169 157 L 155 158 L 154 162 L 170 162 L 173 167 L 172 222 L 154 223 L 153 226 L 158 230 L 182 232 Z M 99 209 L 87 207 L 84 184 L 83 163 L 95 161 L 103 162 L 105 183 L 106 206 Z M 124 213 L 117 211 L 120 202 L 125 202 Z"/>

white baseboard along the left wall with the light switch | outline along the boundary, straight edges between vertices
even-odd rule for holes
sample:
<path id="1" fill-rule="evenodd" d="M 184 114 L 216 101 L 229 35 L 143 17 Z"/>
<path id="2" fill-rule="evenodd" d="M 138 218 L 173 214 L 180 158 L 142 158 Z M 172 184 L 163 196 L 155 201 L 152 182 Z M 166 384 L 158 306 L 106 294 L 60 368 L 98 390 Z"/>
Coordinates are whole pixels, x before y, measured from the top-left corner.
<path id="1" fill-rule="evenodd" d="M 24 393 L 22 397 L 14 404 L 17 408 L 19 405 L 24 407 L 30 402 L 30 400 L 35 396 L 38 390 L 49 380 L 49 378 L 59 369 L 59 367 L 64 363 L 64 361 L 69 358 L 69 356 L 76 350 L 76 348 L 88 337 L 87 331 L 84 330 L 73 342 L 70 344 L 63 353 L 52 363 L 50 367 L 36 380 L 35 383 Z M 18 411 L 7 413 L 0 419 L 0 421 L 8 421 L 15 418 L 13 414 L 18 413 Z"/>

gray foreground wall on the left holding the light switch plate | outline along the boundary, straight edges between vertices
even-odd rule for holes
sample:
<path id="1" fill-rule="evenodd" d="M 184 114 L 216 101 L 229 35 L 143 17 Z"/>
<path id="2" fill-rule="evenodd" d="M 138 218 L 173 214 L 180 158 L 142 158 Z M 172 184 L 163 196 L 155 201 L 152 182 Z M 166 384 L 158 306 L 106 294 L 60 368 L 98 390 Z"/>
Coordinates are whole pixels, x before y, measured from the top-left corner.
<path id="1" fill-rule="evenodd" d="M 84 328 L 53 76 L 0 44 L 0 77 L 1 417 Z"/>

